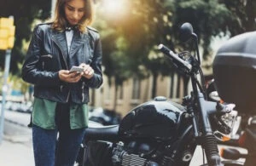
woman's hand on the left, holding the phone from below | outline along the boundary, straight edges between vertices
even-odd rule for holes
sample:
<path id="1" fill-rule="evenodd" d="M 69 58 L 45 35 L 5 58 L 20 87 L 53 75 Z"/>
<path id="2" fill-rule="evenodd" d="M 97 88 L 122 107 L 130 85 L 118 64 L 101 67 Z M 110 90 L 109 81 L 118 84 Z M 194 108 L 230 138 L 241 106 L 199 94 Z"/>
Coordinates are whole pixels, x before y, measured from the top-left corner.
<path id="1" fill-rule="evenodd" d="M 61 81 L 67 83 L 77 83 L 81 79 L 83 73 L 78 72 L 69 72 L 67 70 L 59 71 L 59 77 Z"/>

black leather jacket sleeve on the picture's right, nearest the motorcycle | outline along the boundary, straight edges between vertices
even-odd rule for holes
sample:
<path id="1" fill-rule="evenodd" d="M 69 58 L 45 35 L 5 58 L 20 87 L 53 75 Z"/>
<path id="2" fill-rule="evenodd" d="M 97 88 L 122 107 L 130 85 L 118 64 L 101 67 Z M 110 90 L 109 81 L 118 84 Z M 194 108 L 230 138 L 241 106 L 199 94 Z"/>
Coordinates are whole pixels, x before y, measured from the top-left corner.
<path id="1" fill-rule="evenodd" d="M 102 42 L 98 36 L 95 42 L 94 57 L 90 66 L 94 70 L 94 75 L 90 79 L 83 77 L 86 85 L 92 89 L 98 89 L 103 82 L 102 79 Z"/>

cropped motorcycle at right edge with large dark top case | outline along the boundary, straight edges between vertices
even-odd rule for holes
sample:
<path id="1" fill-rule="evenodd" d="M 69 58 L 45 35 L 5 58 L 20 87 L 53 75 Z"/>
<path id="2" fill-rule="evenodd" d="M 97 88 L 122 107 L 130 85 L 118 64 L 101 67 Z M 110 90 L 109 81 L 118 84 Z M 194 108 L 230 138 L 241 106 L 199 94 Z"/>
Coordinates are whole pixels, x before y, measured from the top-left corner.
<path id="1" fill-rule="evenodd" d="M 236 103 L 241 116 L 239 138 L 224 147 L 221 156 L 232 165 L 256 165 L 256 31 L 231 37 L 222 45 L 213 61 L 215 87 L 221 99 Z M 240 152 L 242 147 L 247 152 Z M 245 158 L 245 162 L 239 159 Z"/>

